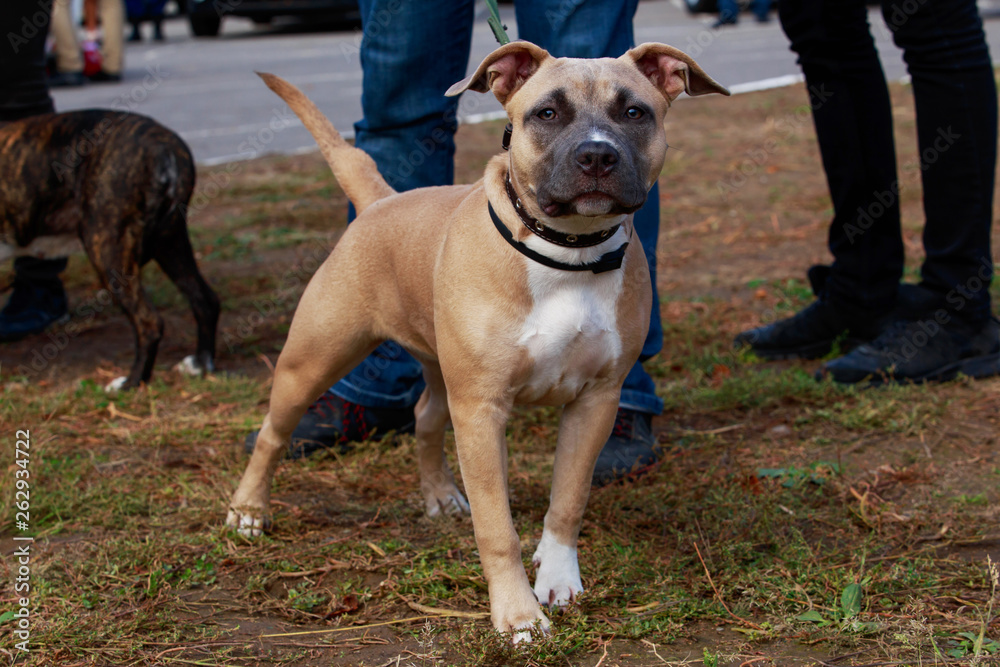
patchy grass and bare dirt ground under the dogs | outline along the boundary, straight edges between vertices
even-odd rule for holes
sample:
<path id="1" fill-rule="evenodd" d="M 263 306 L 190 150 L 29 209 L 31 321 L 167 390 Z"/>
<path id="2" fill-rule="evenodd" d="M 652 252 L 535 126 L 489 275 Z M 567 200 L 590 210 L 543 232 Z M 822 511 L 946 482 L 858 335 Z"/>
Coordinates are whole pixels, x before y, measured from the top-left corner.
<path id="1" fill-rule="evenodd" d="M 915 279 L 912 102 L 905 88 L 893 99 Z M 552 615 L 549 636 L 513 647 L 492 631 L 471 523 L 423 516 L 407 436 L 287 462 L 275 529 L 251 543 L 222 528 L 294 305 L 345 222 L 343 194 L 307 155 L 200 174 L 192 236 L 225 308 L 217 375 L 169 370 L 193 348 L 193 326 L 147 267 L 166 320 L 157 372 L 105 395 L 131 362 L 131 335 L 82 257 L 66 274 L 82 333 L 51 359 L 58 331 L 0 348 L 0 534 L 5 545 L 22 534 L 13 434 L 30 429 L 36 540 L 32 652 L 6 640 L 0 651 L 45 666 L 998 661 L 987 559 L 1000 557 L 1000 380 L 844 389 L 813 380 L 816 362 L 731 348 L 741 329 L 808 303 L 805 269 L 826 260 L 830 204 L 805 102 L 790 88 L 671 111 L 664 351 L 648 364 L 667 405 L 655 422 L 663 462 L 592 494 L 587 591 Z M 501 132 L 461 129 L 461 180 L 476 178 Z M 525 565 L 557 422 L 557 410 L 519 409 L 508 428 Z M 0 612 L 0 628 L 12 636 L 14 619 Z"/>

